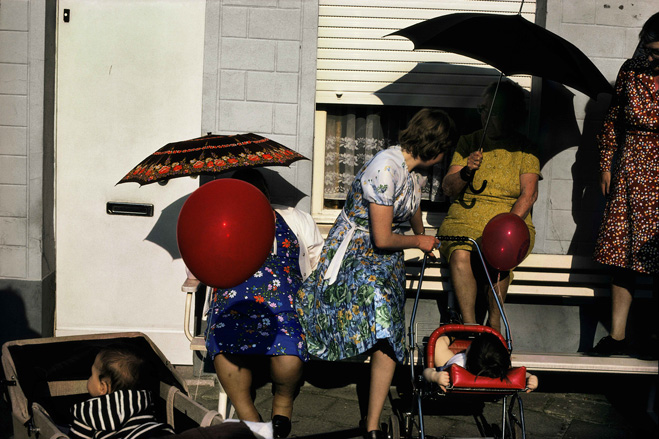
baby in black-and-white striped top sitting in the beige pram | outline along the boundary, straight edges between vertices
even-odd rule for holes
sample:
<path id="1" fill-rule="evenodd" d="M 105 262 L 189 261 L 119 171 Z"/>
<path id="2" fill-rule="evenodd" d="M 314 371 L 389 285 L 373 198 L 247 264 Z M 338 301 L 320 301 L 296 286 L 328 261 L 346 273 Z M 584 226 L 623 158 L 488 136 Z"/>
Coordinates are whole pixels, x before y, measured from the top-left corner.
<path id="1" fill-rule="evenodd" d="M 110 346 L 96 355 L 87 380 L 91 399 L 71 409 L 72 439 L 250 438 L 256 436 L 240 422 L 199 427 L 175 435 L 171 426 L 158 422 L 150 390 L 155 374 L 149 364 L 128 346 Z"/>

